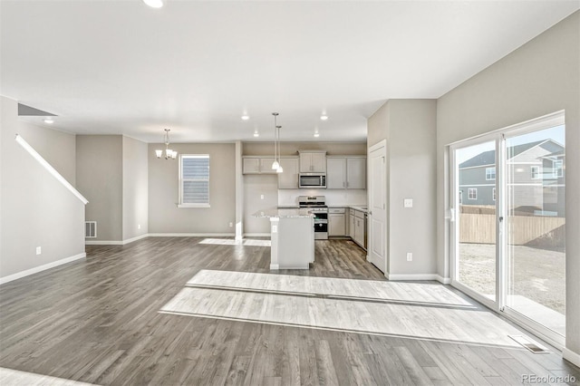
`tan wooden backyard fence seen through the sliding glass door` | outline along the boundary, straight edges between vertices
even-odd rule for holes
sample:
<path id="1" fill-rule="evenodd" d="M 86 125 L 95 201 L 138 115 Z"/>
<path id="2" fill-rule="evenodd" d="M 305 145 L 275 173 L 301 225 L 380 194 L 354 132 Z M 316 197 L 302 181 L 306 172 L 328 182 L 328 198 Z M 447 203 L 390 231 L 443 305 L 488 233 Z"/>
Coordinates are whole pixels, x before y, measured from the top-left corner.
<path id="1" fill-rule="evenodd" d="M 546 237 L 565 225 L 564 217 L 507 217 L 509 244 L 523 246 Z M 472 213 L 459 214 L 459 242 L 477 244 L 496 243 L 496 216 Z"/>

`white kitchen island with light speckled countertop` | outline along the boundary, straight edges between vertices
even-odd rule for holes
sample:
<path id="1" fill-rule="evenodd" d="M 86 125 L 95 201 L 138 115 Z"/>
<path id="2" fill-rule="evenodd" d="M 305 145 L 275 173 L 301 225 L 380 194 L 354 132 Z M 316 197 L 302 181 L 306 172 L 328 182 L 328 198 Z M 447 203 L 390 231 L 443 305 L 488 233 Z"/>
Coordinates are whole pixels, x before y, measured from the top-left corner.
<path id="1" fill-rule="evenodd" d="M 314 215 L 307 208 L 272 208 L 254 216 L 270 219 L 270 269 L 309 269 L 314 263 Z"/>

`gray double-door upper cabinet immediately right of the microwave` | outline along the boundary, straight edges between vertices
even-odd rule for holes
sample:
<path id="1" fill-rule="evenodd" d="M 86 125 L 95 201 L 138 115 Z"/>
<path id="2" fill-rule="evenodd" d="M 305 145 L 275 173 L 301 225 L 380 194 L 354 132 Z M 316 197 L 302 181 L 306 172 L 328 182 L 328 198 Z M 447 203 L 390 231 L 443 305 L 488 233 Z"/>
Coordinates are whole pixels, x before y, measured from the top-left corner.
<path id="1" fill-rule="evenodd" d="M 328 157 L 326 188 L 366 188 L 366 157 Z"/>

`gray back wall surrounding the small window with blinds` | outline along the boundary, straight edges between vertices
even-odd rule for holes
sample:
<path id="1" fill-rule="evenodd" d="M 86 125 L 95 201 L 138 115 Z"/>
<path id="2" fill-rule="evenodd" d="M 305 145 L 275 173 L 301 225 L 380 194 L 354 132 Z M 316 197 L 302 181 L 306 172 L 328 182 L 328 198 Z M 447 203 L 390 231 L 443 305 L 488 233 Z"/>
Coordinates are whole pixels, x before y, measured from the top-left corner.
<path id="1" fill-rule="evenodd" d="M 236 221 L 236 145 L 171 144 L 179 154 L 209 154 L 209 204 L 211 207 L 177 207 L 179 160 L 158 159 L 149 145 L 149 232 L 186 234 L 231 234 Z"/>

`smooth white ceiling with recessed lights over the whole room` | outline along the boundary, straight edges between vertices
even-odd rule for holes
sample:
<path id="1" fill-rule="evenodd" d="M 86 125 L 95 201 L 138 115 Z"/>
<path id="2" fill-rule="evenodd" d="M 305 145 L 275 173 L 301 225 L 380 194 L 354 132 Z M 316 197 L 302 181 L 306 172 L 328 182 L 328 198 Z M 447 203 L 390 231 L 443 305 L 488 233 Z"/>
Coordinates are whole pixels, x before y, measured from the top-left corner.
<path id="1" fill-rule="evenodd" d="M 0 93 L 82 134 L 160 142 L 168 127 L 172 142 L 272 140 L 278 111 L 282 140 L 365 140 L 384 101 L 438 98 L 580 7 L 166 3 L 2 0 Z"/>

